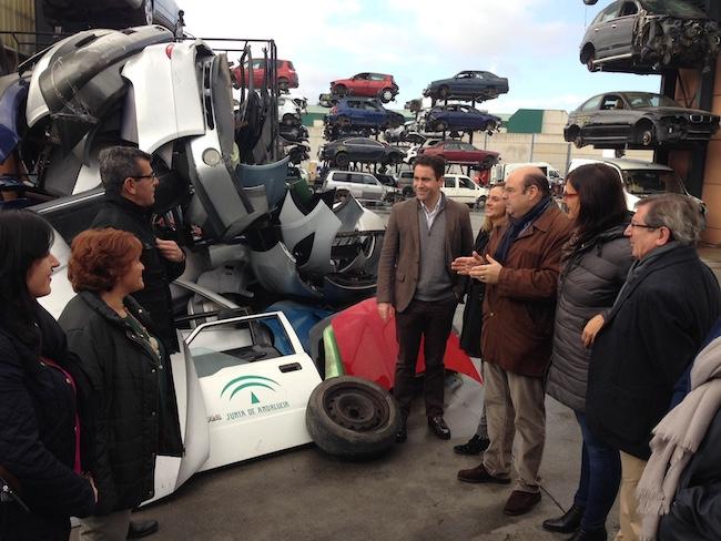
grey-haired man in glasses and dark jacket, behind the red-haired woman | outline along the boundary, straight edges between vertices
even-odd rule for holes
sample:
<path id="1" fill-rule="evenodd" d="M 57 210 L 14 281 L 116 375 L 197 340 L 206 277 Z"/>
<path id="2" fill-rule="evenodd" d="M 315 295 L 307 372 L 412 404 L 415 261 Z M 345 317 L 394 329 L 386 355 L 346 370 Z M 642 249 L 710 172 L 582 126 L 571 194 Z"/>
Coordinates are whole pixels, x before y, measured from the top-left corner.
<path id="1" fill-rule="evenodd" d="M 145 288 L 133 295 L 150 314 L 151 333 L 169 353 L 179 350 L 173 328 L 169 284 L 185 270 L 185 254 L 174 241 L 158 238 L 151 223 L 158 177 L 151 156 L 130 146 L 113 146 L 100 153 L 100 177 L 105 202 L 92 228 L 114 227 L 135 235 L 143 243 Z"/>

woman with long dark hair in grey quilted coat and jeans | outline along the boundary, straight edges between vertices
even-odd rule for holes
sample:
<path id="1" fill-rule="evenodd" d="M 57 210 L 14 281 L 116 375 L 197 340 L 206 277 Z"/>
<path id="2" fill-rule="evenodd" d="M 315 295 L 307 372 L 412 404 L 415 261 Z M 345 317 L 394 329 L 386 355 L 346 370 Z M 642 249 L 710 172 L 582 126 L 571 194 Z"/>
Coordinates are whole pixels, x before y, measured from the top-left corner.
<path id="1" fill-rule="evenodd" d="M 632 263 L 631 246 L 623 236 L 629 213 L 618 174 L 603 164 L 572 171 L 563 202 L 576 228 L 566 245 L 558 282 L 546 392 L 573 410 L 583 446 L 573 504 L 562 517 L 545 521 L 544 529 L 573 533 L 573 541 L 605 541 L 606 517 L 616 500 L 621 463 L 618 451 L 596 438 L 586 425 L 586 387 L 598 324 L 595 316 L 611 309 Z"/>

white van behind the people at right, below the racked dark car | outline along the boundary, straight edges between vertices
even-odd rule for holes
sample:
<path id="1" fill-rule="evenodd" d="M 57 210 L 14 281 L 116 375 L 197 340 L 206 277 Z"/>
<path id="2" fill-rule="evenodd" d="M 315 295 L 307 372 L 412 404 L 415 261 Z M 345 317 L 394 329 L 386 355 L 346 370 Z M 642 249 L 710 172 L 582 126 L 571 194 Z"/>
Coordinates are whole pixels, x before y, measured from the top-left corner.
<path id="1" fill-rule="evenodd" d="M 681 177 L 668 165 L 660 163 L 644 162 L 642 160 L 602 157 L 588 160 L 577 157 L 571 160 L 568 173 L 589 163 L 603 163 L 611 166 L 623 185 L 626 206 L 629 211 L 636 210 L 636 203 L 648 195 L 659 193 L 677 193 L 689 195 Z M 703 202 L 698 200 L 701 205 Z M 704 206 L 705 208 L 705 206 Z"/>

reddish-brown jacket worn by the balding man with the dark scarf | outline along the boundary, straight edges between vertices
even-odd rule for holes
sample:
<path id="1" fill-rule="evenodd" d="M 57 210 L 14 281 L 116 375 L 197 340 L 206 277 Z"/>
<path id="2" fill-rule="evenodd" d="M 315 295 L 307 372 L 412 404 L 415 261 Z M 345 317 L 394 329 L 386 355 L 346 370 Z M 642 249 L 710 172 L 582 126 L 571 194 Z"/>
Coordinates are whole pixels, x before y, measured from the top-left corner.
<path id="1" fill-rule="evenodd" d="M 506 227 L 491 232 L 487 254 L 496 253 Z M 498 284 L 486 285 L 480 339 L 485 361 L 520 376 L 546 371 L 561 248 L 571 228 L 572 222 L 551 202 L 511 245 Z"/>

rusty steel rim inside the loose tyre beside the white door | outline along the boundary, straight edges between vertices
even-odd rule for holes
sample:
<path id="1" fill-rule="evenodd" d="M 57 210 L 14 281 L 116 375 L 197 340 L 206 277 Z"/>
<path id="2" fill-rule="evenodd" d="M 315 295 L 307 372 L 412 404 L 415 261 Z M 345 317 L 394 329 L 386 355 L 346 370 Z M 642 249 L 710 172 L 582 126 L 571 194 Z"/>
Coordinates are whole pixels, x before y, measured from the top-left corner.
<path id="1" fill-rule="evenodd" d="M 355 432 L 377 430 L 390 418 L 390 409 L 377 391 L 351 382 L 328 390 L 323 409 L 336 425 Z"/>

